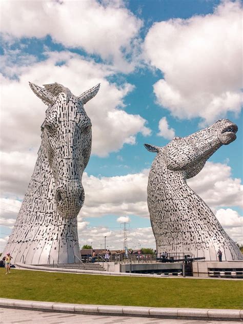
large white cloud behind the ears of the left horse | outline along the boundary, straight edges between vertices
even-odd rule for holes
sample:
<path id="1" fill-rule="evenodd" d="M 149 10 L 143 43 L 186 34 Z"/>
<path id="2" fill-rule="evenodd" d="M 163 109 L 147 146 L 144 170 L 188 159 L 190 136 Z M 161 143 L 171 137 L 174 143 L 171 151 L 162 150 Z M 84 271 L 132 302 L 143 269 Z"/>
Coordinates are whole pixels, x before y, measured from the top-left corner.
<path id="1" fill-rule="evenodd" d="M 110 66 L 85 61 L 82 56 L 70 52 L 48 52 L 46 55 L 47 60 L 32 66 L 13 66 L 12 73 L 19 75 L 19 81 L 2 78 L 2 150 L 23 152 L 32 148 L 36 152 L 40 144 L 40 125 L 46 107 L 34 96 L 28 81 L 38 85 L 57 81 L 77 96 L 101 83 L 97 96 L 85 106 L 93 124 L 92 154 L 107 156 L 125 143 L 135 144 L 137 132 L 144 136 L 150 134 L 145 119 L 123 110 L 123 99 L 133 86 L 109 83 L 106 78 L 113 74 Z M 63 65 L 57 65 L 58 62 Z"/>

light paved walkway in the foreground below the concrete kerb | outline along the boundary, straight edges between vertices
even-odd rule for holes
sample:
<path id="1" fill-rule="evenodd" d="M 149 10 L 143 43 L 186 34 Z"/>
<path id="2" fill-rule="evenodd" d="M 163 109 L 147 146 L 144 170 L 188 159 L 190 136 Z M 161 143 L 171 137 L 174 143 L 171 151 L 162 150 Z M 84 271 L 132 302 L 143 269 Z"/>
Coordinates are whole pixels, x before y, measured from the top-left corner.
<path id="1" fill-rule="evenodd" d="M 79 315 L 0 308 L 0 323 L 7 324 L 228 324 L 228 321 L 159 319 L 125 316 Z M 233 323 L 233 322 L 231 322 Z M 235 322 L 237 323 L 237 322 Z M 239 322 L 238 322 L 239 323 Z M 242 323 L 242 322 L 241 322 Z"/>

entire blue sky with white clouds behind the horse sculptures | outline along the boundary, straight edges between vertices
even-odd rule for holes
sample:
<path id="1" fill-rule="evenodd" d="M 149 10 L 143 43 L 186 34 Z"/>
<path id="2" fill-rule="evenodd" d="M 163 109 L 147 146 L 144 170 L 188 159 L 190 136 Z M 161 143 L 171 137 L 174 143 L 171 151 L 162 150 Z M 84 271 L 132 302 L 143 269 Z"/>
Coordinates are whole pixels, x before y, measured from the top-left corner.
<path id="1" fill-rule="evenodd" d="M 15 222 L 40 145 L 46 106 L 28 82 L 58 82 L 76 96 L 101 83 L 85 106 L 92 156 L 78 216 L 82 246 L 155 247 L 148 173 L 164 146 L 219 118 L 237 140 L 188 184 L 227 233 L 242 230 L 242 7 L 219 0 L 6 1 L 1 6 L 0 252 Z M 10 19 L 11 17 L 11 19 Z"/>

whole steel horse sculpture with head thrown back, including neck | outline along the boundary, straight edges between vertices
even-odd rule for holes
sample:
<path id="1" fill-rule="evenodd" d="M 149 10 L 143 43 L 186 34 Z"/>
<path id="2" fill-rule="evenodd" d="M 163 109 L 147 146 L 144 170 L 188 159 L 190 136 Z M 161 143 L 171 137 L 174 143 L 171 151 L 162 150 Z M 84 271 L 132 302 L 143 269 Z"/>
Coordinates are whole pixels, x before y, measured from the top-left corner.
<path id="1" fill-rule="evenodd" d="M 211 209 L 187 185 L 221 146 L 236 139 L 237 126 L 221 119 L 194 134 L 174 138 L 165 147 L 145 144 L 157 153 L 148 180 L 148 207 L 157 252 L 192 253 L 195 257 L 240 260 L 238 246 L 226 234 Z"/>

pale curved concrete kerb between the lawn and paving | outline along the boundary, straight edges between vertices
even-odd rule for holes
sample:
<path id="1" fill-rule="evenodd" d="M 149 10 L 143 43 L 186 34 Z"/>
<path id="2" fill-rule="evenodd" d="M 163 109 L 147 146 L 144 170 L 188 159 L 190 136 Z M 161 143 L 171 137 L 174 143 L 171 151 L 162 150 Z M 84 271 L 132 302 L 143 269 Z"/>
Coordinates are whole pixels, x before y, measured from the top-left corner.
<path id="1" fill-rule="evenodd" d="M 72 304 L 62 302 L 34 301 L 0 298 L 0 308 L 37 311 L 37 312 L 59 312 L 64 315 L 88 315 L 88 316 L 123 316 L 145 317 L 159 322 L 161 319 L 183 319 L 183 320 L 220 320 L 220 321 L 242 321 L 242 310 L 220 310 L 220 309 L 196 309 L 196 308 L 159 308 L 159 307 L 136 307 L 136 306 L 112 306 Z M 66 317 L 65 317 L 66 318 Z M 67 317 L 68 318 L 68 317 Z M 119 321 L 117 321 L 119 322 Z"/>

